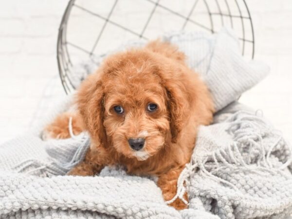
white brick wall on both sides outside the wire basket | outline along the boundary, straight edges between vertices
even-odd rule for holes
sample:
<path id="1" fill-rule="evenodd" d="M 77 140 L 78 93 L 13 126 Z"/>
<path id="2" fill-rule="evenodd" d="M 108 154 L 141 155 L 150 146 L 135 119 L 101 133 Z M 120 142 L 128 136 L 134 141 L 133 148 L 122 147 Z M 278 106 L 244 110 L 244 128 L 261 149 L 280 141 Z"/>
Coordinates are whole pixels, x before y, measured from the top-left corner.
<path id="1" fill-rule="evenodd" d="M 292 141 L 292 0 L 246 2 L 254 21 L 256 58 L 271 66 L 271 74 L 241 102 L 263 110 Z M 64 95 L 56 38 L 67 3 L 0 0 L 0 143 L 30 126 L 50 82 Z"/>

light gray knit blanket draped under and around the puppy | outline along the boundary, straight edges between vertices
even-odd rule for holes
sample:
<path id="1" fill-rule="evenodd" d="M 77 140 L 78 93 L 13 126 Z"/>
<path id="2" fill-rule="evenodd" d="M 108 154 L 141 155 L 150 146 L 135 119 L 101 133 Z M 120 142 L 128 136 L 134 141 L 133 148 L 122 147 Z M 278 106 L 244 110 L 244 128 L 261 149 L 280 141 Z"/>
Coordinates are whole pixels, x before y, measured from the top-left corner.
<path id="1" fill-rule="evenodd" d="M 178 181 L 175 198 L 187 191 L 188 209 L 169 207 L 155 176 L 130 176 L 123 166 L 105 167 L 98 176 L 65 176 L 84 158 L 88 135 L 42 141 L 41 130 L 68 109 L 68 97 L 37 129 L 0 146 L 0 218 L 279 219 L 292 213 L 292 148 L 260 110 L 236 101 L 267 67 L 245 61 L 228 30 L 172 33 L 164 40 L 185 52 L 217 109 L 214 124 L 199 128 Z"/>

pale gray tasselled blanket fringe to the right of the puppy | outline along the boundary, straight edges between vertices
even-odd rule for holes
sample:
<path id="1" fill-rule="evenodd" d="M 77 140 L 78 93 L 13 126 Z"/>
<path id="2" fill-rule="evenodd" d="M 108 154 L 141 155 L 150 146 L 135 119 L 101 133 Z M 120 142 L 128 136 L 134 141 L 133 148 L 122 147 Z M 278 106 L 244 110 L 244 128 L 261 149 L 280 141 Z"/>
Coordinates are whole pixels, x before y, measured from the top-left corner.
<path id="1" fill-rule="evenodd" d="M 201 174 L 204 177 L 210 178 L 218 183 L 224 183 L 235 189 L 235 191 L 238 191 L 236 185 L 209 172 L 206 168 L 208 162 L 214 162 L 216 168 L 241 168 L 261 175 L 267 172 L 286 175 L 281 170 L 287 168 L 292 163 L 292 147 L 281 136 L 281 133 L 275 134 L 277 131 L 259 116 L 262 117 L 262 111 L 257 110 L 255 114 L 247 111 L 237 111 L 229 117 L 226 122 L 230 122 L 231 124 L 226 131 L 233 136 L 234 142 L 225 148 L 213 151 L 204 159 L 196 157 L 189 164 L 186 164 L 177 182 L 178 189 L 176 195 L 171 200 L 166 201 L 166 203 L 170 204 L 179 198 L 185 204 L 188 204 L 183 198 L 183 195 L 190 184 L 190 177 L 199 170 L 201 170 Z M 263 142 L 264 138 L 273 135 L 277 135 L 277 140 L 273 144 L 268 145 Z M 270 160 L 272 153 L 276 150 L 276 147 L 281 146 L 287 148 L 289 157 L 287 155 L 286 161 L 282 165 L 274 166 Z M 242 151 L 240 151 L 243 148 L 248 148 L 249 150 L 247 159 L 243 158 Z M 258 150 L 258 157 L 252 158 L 251 150 Z"/>

